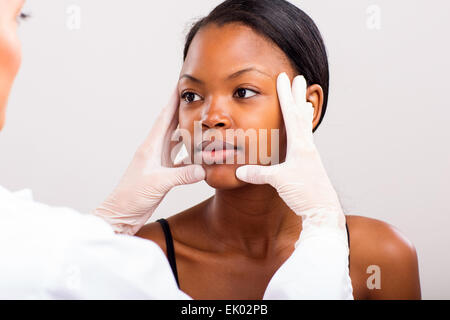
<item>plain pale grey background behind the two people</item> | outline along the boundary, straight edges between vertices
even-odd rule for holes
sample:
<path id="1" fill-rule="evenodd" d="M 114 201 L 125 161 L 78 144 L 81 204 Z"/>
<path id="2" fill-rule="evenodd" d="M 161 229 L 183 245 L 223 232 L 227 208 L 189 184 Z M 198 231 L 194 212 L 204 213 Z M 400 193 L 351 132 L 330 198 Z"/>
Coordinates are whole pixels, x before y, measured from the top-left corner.
<path id="1" fill-rule="evenodd" d="M 220 1 L 28 1 L 23 67 L 0 135 L 0 183 L 88 212 L 112 190 L 182 64 L 189 22 Z M 292 1 L 329 52 L 329 110 L 315 134 L 346 211 L 416 246 L 425 299 L 450 299 L 450 2 Z M 66 23 L 81 8 L 79 30 Z M 369 5 L 381 28 L 367 27 Z M 213 194 L 173 189 L 152 220 Z"/>

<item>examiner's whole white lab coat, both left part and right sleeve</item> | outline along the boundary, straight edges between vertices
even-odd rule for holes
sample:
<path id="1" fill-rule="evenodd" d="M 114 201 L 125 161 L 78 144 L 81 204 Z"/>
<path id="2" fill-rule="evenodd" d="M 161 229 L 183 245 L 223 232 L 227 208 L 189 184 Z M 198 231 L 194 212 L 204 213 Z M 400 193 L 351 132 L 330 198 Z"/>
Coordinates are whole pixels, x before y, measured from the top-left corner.
<path id="1" fill-rule="evenodd" d="M 0 299 L 191 299 L 156 243 L 37 203 L 30 190 L 0 186 L 0 230 Z M 336 239 L 300 241 L 264 298 L 353 299 L 348 246 Z"/>

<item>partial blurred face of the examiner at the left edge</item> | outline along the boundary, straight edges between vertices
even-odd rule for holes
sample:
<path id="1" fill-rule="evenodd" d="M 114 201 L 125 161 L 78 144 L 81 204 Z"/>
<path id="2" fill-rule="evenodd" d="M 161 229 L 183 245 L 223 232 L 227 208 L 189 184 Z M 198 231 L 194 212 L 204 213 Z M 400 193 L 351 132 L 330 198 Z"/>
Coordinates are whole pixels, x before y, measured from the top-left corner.
<path id="1" fill-rule="evenodd" d="M 17 17 L 24 2 L 25 0 L 0 0 L 0 130 L 5 122 L 9 92 L 20 66 Z"/>

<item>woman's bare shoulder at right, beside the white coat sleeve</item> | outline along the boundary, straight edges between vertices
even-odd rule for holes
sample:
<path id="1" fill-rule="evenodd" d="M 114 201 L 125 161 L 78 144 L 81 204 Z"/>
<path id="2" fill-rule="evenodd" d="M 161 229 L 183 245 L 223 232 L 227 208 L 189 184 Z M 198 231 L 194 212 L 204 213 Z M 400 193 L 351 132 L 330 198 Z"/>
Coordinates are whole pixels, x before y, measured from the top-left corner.
<path id="1" fill-rule="evenodd" d="M 362 216 L 347 216 L 350 234 L 350 268 L 360 274 L 380 272 L 380 288 L 371 298 L 420 299 L 416 249 L 393 225 Z M 372 270 L 372 271 L 371 271 Z"/>

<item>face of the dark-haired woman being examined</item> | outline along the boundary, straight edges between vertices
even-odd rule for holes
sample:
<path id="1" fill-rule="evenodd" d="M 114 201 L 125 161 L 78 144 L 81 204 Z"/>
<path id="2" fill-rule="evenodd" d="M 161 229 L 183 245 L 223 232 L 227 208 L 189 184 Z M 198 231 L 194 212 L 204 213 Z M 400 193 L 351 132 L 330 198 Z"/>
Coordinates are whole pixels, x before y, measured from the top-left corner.
<path id="1" fill-rule="evenodd" d="M 279 151 L 276 152 L 282 162 L 286 136 L 276 90 L 276 79 L 281 72 L 286 72 L 291 80 L 296 75 L 281 49 L 250 27 L 229 23 L 200 29 L 180 73 L 180 128 L 190 131 L 194 137 L 194 122 L 199 121 L 203 132 L 217 129 L 222 133 L 220 139 L 239 147 L 242 146 L 237 139 L 227 140 L 225 130 L 254 129 L 258 133 L 257 164 L 267 164 L 260 162 L 260 129 L 267 130 L 267 143 L 262 145 L 266 145 L 268 155 L 271 155 L 271 130 L 278 129 Z M 250 159 L 249 141 L 245 139 L 244 164 Z M 194 143 L 189 149 L 194 162 L 194 152 L 201 151 L 196 151 Z M 234 164 L 203 161 L 206 182 L 218 189 L 244 185 L 235 175 L 236 168 L 243 164 L 236 162 L 237 155 Z"/>

